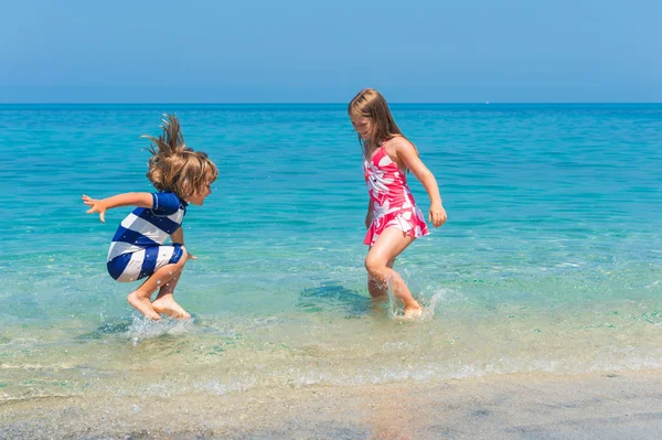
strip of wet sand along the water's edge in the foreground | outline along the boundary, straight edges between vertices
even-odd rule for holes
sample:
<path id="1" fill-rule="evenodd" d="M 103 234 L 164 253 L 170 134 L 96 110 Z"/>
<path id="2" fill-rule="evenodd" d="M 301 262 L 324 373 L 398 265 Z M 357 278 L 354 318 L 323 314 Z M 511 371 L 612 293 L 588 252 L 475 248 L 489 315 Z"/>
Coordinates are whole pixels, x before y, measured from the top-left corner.
<path id="1" fill-rule="evenodd" d="M 7 439 L 658 439 L 662 372 L 0 404 Z"/>

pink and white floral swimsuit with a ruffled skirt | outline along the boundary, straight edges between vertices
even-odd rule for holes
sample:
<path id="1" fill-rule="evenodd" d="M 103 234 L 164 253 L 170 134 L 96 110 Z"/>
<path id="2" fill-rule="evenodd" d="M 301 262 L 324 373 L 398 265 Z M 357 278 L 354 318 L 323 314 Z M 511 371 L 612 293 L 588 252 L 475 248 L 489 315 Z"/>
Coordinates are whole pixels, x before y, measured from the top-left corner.
<path id="1" fill-rule="evenodd" d="M 384 144 L 370 160 L 363 161 L 363 175 L 374 215 L 363 243 L 373 246 L 387 227 L 395 227 L 409 237 L 429 234 L 425 217 L 407 186 L 407 176 L 391 160 Z"/>

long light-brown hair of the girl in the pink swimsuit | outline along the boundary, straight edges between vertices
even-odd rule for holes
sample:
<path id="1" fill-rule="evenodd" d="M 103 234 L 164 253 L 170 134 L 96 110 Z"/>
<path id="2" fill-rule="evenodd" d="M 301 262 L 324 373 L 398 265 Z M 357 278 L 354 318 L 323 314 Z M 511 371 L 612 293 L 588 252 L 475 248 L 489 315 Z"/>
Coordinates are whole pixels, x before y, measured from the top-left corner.
<path id="1" fill-rule="evenodd" d="M 382 144 L 382 142 L 391 140 L 396 136 L 405 137 L 395 124 L 388 104 L 386 104 L 386 99 L 384 99 L 384 96 L 374 88 L 364 88 L 359 92 L 350 101 L 348 112 L 350 114 L 350 117 L 362 116 L 364 118 L 370 118 L 374 124 L 370 141 L 366 142 L 361 138 L 361 135 L 356 135 L 365 158 L 370 158 L 371 153 L 375 148 Z"/>

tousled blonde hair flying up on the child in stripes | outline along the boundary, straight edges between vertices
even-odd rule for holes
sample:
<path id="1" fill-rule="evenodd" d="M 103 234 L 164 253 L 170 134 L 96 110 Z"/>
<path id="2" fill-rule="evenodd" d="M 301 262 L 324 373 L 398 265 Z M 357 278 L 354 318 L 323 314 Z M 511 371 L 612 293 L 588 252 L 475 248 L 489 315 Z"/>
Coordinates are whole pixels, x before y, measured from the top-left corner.
<path id="1" fill-rule="evenodd" d="M 218 169 L 206 153 L 186 147 L 179 120 L 163 115 L 163 132 L 159 138 L 141 136 L 151 140 L 147 150 L 149 158 L 147 179 L 159 191 L 175 193 L 180 198 L 201 194 L 218 176 Z"/>

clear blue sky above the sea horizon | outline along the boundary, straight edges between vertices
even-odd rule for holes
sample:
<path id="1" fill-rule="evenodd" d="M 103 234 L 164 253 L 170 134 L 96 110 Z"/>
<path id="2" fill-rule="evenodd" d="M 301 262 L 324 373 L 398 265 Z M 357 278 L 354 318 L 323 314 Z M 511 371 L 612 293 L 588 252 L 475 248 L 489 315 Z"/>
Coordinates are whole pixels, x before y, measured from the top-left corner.
<path id="1" fill-rule="evenodd" d="M 662 101 L 660 0 L 0 0 L 0 103 Z"/>

